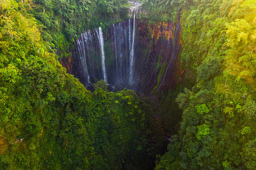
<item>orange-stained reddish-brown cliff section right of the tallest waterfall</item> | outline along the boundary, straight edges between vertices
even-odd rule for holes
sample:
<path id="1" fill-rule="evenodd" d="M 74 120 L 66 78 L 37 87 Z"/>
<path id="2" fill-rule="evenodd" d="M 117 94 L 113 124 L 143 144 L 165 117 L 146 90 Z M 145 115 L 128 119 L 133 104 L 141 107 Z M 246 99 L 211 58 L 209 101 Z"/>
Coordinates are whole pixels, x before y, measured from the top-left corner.
<path id="1" fill-rule="evenodd" d="M 178 55 L 182 41 L 181 26 L 170 22 L 148 23 L 148 20 L 138 22 L 138 56 L 147 52 L 147 80 L 141 90 L 152 91 L 170 89 L 176 85 Z"/>

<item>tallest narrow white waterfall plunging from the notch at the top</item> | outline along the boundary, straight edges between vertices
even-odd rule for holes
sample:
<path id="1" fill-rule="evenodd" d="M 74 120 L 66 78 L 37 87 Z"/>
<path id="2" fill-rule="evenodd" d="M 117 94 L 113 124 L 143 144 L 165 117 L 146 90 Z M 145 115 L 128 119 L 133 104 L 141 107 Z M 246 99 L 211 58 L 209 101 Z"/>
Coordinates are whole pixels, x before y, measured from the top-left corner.
<path id="1" fill-rule="evenodd" d="M 131 42 L 130 46 L 130 78 L 129 81 L 131 84 L 133 84 L 133 76 L 134 76 L 134 37 L 135 37 L 135 10 L 133 15 L 133 40 Z M 130 25 L 129 25 L 130 27 Z M 129 36 L 130 38 L 130 36 Z"/>

